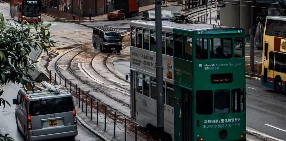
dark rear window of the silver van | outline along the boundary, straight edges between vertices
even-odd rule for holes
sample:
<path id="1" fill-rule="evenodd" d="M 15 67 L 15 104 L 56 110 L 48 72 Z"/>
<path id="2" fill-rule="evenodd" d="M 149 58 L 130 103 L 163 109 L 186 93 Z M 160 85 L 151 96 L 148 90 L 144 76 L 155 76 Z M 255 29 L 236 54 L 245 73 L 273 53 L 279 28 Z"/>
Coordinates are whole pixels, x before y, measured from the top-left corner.
<path id="1" fill-rule="evenodd" d="M 52 98 L 31 101 L 29 105 L 29 113 L 31 116 L 39 116 L 45 114 L 55 114 L 61 112 L 69 112 L 74 109 L 72 97 Z"/>

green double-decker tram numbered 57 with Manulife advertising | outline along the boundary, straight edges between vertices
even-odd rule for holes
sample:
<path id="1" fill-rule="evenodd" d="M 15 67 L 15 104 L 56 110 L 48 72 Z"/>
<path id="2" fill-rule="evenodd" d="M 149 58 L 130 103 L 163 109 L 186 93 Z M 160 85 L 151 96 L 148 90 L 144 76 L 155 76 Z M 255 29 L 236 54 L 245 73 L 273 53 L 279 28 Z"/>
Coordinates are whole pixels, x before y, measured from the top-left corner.
<path id="1" fill-rule="evenodd" d="M 155 21 L 130 22 L 131 117 L 156 132 Z M 162 21 L 166 140 L 246 140 L 245 31 Z"/>

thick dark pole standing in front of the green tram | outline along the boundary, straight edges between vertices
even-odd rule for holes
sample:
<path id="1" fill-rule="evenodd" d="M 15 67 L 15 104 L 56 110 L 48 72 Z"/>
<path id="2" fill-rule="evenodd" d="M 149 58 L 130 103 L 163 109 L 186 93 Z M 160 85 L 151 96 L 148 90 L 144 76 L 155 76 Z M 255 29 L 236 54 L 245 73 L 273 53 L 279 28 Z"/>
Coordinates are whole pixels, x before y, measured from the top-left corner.
<path id="1" fill-rule="evenodd" d="M 164 110 L 163 110 L 163 61 L 162 61 L 162 15 L 161 0 L 155 2 L 156 28 L 156 94 L 157 94 L 157 141 L 164 137 Z"/>

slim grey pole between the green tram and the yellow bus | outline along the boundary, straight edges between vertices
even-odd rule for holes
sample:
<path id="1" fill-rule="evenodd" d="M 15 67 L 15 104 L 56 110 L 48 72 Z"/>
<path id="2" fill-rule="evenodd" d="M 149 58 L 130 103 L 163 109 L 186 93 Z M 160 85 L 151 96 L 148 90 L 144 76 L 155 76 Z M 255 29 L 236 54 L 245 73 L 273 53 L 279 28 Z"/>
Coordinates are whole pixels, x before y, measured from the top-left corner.
<path id="1" fill-rule="evenodd" d="M 250 28 L 250 67 L 251 71 L 254 72 L 254 37 L 253 37 L 253 3 L 251 3 L 251 28 Z"/>

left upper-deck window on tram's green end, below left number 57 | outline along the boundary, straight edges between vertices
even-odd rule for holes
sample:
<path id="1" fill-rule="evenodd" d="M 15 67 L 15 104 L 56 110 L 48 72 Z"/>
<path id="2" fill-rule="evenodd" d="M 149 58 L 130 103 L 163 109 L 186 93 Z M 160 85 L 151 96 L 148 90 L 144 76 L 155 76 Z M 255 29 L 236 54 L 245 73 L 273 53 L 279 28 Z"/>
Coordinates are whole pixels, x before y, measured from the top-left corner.
<path id="1" fill-rule="evenodd" d="M 208 59 L 208 39 L 196 39 L 196 59 Z"/>

